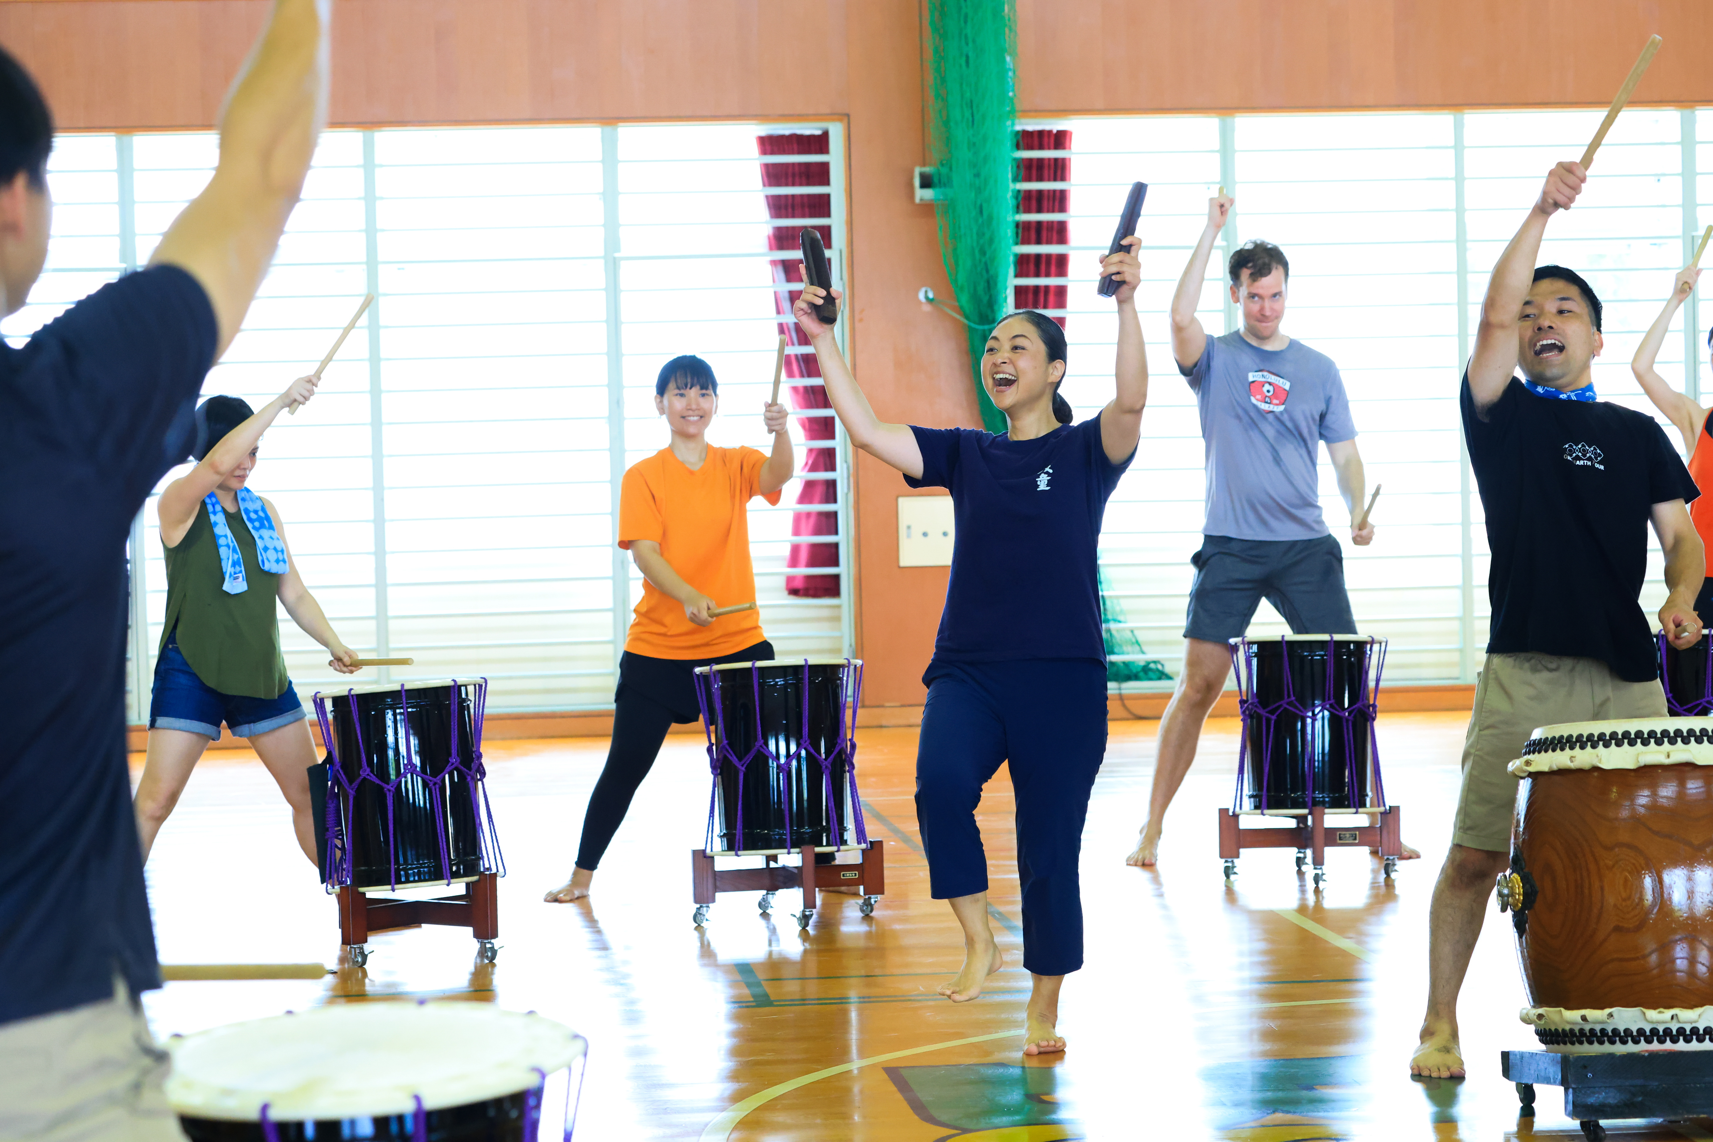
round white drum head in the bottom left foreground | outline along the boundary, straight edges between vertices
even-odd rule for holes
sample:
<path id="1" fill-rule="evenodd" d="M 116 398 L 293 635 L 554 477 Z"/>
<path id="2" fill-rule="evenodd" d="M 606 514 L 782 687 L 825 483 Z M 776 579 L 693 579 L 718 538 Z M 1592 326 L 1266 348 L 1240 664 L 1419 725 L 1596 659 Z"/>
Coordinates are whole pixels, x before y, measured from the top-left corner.
<path id="1" fill-rule="evenodd" d="M 529 1091 L 584 1051 L 541 1015 L 486 1003 L 341 1003 L 168 1041 L 166 1097 L 192 1118 L 408 1115 Z"/>

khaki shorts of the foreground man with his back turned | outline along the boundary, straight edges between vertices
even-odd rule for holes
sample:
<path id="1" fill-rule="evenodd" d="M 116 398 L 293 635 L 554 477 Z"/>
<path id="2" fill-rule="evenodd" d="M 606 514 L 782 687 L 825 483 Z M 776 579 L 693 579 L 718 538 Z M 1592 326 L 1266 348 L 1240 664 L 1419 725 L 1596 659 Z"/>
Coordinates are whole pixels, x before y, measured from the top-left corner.
<path id="1" fill-rule="evenodd" d="M 168 1065 L 118 981 L 111 1000 L 0 1024 L 0 1139 L 185 1142 Z"/>

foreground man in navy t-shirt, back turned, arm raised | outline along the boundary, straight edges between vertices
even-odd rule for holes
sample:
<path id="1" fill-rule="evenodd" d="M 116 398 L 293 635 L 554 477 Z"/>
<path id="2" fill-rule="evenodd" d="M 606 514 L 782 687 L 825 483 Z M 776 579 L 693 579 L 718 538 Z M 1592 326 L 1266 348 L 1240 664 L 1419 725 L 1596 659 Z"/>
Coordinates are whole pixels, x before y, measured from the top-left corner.
<path id="1" fill-rule="evenodd" d="M 276 0 L 219 166 L 149 267 L 0 346 L 0 1137 L 183 1139 L 139 993 L 161 986 L 125 767 L 125 543 L 185 457 L 327 104 L 327 0 Z M 53 122 L 0 50 L 0 313 L 48 252 Z"/>

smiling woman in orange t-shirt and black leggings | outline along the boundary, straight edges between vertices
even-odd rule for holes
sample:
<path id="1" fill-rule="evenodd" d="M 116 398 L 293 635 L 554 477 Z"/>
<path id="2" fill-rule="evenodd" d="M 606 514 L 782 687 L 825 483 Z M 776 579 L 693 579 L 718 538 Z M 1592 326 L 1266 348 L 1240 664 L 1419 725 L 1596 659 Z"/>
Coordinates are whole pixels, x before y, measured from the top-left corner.
<path id="1" fill-rule="evenodd" d="M 618 546 L 642 572 L 642 601 L 630 620 L 613 695 L 613 745 L 589 794 L 570 880 L 546 894 L 565 904 L 589 895 L 589 882 L 630 798 L 654 765 L 673 723 L 701 721 L 694 671 L 709 663 L 771 659 L 773 645 L 750 611 L 709 611 L 755 598 L 749 558 L 750 497 L 779 502 L 791 478 L 791 433 L 783 404 L 767 404 L 762 423 L 773 455 L 716 449 L 707 423 L 719 407 L 719 382 L 699 356 L 666 361 L 654 382 L 654 409 L 671 443 L 632 464 L 618 500 Z"/>

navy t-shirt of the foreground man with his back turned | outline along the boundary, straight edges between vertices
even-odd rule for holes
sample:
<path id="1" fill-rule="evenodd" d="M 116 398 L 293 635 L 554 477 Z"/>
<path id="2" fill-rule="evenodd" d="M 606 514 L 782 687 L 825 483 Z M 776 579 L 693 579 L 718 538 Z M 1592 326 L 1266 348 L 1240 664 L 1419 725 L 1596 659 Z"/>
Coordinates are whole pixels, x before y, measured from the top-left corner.
<path id="1" fill-rule="evenodd" d="M 214 310 L 158 267 L 0 344 L 0 1024 L 161 986 L 125 770 L 125 541 L 190 447 Z"/>

